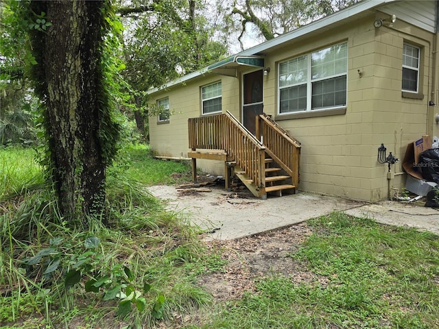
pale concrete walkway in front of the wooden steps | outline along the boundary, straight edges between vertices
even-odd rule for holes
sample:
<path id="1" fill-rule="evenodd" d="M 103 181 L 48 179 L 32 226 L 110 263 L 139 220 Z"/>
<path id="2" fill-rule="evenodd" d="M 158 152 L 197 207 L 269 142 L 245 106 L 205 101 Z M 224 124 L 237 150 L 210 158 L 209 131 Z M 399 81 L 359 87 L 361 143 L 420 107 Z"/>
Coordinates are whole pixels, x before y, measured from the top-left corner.
<path id="1" fill-rule="evenodd" d="M 150 186 L 150 192 L 167 200 L 167 208 L 182 213 L 209 232 L 210 239 L 230 240 L 289 226 L 307 219 L 344 211 L 379 223 L 429 230 L 439 234 L 439 211 L 401 202 L 366 204 L 339 197 L 298 193 L 256 199 L 246 192 L 209 189 L 180 190 L 175 186 Z"/>

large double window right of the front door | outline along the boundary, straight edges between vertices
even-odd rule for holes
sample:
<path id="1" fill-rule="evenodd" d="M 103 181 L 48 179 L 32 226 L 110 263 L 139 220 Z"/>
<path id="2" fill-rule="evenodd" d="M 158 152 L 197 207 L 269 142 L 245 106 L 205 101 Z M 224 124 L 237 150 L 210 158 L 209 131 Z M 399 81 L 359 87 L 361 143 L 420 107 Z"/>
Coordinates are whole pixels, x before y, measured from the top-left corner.
<path id="1" fill-rule="evenodd" d="M 279 64 L 279 114 L 346 106 L 346 42 Z"/>

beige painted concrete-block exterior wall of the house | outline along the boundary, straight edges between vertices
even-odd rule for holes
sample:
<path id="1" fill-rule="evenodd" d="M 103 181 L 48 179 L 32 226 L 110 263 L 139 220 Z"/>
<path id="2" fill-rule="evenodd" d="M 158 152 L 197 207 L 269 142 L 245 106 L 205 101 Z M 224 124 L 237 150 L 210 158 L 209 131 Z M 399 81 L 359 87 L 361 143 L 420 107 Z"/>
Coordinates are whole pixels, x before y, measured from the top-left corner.
<path id="1" fill-rule="evenodd" d="M 379 16 L 380 13 L 377 13 Z M 431 47 L 434 35 L 403 21 L 393 28 L 373 27 L 375 15 L 339 25 L 318 34 L 298 38 L 282 49 L 266 53 L 265 66 L 270 73 L 264 76 L 264 112 L 302 143 L 299 190 L 338 195 L 353 199 L 376 201 L 388 196 L 387 164 L 377 163 L 377 149 L 384 143 L 388 151 L 402 159 L 407 143 L 426 134 L 439 131 L 431 122 L 428 106 L 432 64 Z M 424 77 L 421 80 L 423 99 L 402 97 L 403 42 L 423 49 Z M 278 63 L 333 45 L 348 42 L 348 95 L 346 113 L 321 117 L 283 119 L 278 111 Z M 358 70 L 361 71 L 361 77 Z M 222 109 L 241 119 L 241 77 L 254 69 L 240 71 L 238 78 L 206 75 L 186 86 L 174 86 L 154 94 L 154 101 L 169 96 L 171 119 L 157 125 L 150 120 L 151 145 L 165 156 L 187 156 L 187 119 L 199 117 L 200 86 L 222 81 Z M 198 161 L 209 173 L 224 175 L 224 164 Z M 405 174 L 401 163 L 392 166 L 396 172 L 392 186 L 404 186 Z"/>

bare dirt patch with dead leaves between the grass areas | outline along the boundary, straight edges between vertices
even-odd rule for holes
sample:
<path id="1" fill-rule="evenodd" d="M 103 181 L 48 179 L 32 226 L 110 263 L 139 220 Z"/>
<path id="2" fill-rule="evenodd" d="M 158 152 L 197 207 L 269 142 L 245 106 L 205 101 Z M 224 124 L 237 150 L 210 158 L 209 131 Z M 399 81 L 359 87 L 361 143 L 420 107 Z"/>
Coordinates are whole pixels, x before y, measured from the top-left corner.
<path id="1" fill-rule="evenodd" d="M 267 276 L 287 276 L 297 284 L 326 285 L 325 278 L 290 257 L 311 234 L 311 228 L 300 223 L 240 239 L 208 241 L 206 245 L 219 250 L 227 265 L 223 271 L 202 276 L 199 283 L 217 302 L 241 298 L 245 291 L 254 290 L 257 278 Z"/>

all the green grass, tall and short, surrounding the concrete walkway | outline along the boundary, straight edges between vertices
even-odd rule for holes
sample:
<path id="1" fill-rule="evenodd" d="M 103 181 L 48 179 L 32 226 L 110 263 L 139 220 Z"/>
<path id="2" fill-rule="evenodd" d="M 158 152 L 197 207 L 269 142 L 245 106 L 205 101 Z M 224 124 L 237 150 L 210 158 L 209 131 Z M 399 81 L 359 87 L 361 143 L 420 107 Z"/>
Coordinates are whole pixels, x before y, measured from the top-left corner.
<path id="1" fill-rule="evenodd" d="M 108 172 L 110 227 L 84 232 L 35 188 L 32 151 L 0 149 L 0 328 L 439 328 L 439 236 L 341 212 L 308 221 L 286 255 L 318 280 L 267 271 L 237 300 L 215 299 L 200 278 L 239 273 L 145 192 L 190 178 L 189 164 L 150 154 L 123 151 Z"/>

